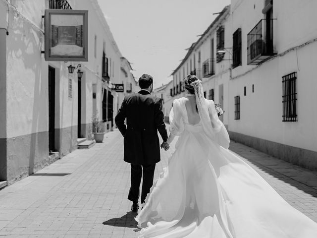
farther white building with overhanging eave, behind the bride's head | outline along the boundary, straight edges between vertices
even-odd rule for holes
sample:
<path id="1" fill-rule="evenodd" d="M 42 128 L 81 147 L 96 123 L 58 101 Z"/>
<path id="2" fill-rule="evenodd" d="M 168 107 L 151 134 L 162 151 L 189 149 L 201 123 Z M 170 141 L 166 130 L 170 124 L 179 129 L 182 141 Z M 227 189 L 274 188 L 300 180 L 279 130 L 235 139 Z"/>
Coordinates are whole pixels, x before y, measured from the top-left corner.
<path id="1" fill-rule="evenodd" d="M 182 62 L 173 71 L 173 80 L 169 90 L 169 99 L 164 107 L 171 109 L 174 99 L 183 97 L 183 79 L 188 74 L 195 74 L 204 87 L 204 94 L 207 99 L 220 103 L 224 111 L 228 109 L 228 87 L 231 73 L 230 59 L 218 57 L 217 50 L 226 49 L 230 51 L 232 44 L 230 24 L 230 7 L 226 6 L 218 14 L 208 29 L 202 34 L 200 39 L 192 44 Z M 228 125 L 228 114 L 220 118 L 223 123 Z"/>

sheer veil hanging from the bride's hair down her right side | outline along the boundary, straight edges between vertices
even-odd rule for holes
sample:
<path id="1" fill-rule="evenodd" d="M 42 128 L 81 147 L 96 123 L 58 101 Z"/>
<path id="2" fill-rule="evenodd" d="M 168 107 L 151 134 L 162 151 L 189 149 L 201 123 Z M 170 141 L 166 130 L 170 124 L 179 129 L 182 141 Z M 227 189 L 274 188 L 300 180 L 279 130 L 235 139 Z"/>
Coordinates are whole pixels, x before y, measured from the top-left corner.
<path id="1" fill-rule="evenodd" d="M 195 89 L 198 114 L 206 135 L 225 149 L 229 148 L 230 138 L 228 132 L 222 121 L 218 118 L 213 101 L 205 99 L 201 80 L 196 80 L 191 85 Z"/>

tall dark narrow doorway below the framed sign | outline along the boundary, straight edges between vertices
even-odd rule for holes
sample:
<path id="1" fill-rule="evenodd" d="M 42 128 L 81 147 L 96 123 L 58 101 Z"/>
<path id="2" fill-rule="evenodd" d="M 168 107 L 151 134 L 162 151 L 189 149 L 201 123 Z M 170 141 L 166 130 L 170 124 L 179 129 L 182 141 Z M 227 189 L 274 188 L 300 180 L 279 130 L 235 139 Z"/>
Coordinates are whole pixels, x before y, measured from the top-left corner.
<path id="1" fill-rule="evenodd" d="M 55 151 L 55 68 L 49 66 L 49 150 Z"/>

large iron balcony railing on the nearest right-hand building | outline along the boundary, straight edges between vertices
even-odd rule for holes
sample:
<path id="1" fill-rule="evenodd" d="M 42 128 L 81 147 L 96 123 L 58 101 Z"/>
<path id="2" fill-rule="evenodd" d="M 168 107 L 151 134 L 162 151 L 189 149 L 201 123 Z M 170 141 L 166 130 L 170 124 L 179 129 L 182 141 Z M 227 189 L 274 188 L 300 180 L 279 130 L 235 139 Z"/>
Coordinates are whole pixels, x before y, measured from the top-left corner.
<path id="1" fill-rule="evenodd" d="M 273 19 L 262 19 L 248 34 L 248 64 L 260 64 L 273 55 Z"/>

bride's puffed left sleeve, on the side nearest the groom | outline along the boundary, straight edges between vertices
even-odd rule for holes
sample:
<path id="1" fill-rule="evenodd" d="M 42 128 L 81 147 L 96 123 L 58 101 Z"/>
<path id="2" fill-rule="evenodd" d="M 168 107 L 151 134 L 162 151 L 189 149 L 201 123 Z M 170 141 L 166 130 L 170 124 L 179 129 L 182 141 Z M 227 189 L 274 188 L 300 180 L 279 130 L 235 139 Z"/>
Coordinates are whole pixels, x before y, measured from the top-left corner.
<path id="1" fill-rule="evenodd" d="M 183 114 L 179 100 L 174 100 L 172 109 L 169 113 L 169 132 L 179 136 L 184 130 Z"/>

